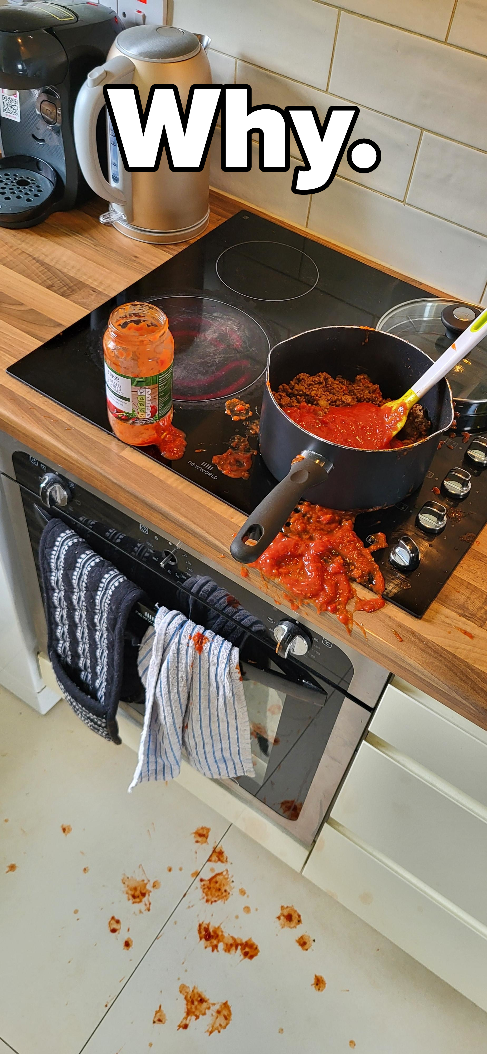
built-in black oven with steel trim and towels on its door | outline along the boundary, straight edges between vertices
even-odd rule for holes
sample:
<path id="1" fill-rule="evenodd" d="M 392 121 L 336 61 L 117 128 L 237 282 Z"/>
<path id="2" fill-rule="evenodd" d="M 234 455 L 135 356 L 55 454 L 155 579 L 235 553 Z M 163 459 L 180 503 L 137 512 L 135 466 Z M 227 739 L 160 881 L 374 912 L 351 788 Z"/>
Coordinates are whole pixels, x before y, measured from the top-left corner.
<path id="1" fill-rule="evenodd" d="M 37 649 L 45 650 L 46 637 L 38 547 L 52 515 L 73 527 L 144 590 L 145 601 L 134 611 L 130 626 L 138 640 L 158 605 L 182 610 L 206 628 L 214 628 L 221 614 L 214 597 L 223 593 L 225 636 L 238 639 L 255 778 L 221 782 L 311 846 L 366 733 L 388 671 L 331 635 L 320 636 L 300 614 L 284 616 L 250 584 L 227 578 L 177 539 L 139 521 L 8 436 L 1 437 L 0 457 L 2 529 L 6 512 L 11 547 L 15 539 L 17 600 L 28 610 Z M 211 580 L 218 590 L 211 588 L 208 599 L 198 592 L 203 580 Z M 121 705 L 141 724 L 142 698 Z"/>

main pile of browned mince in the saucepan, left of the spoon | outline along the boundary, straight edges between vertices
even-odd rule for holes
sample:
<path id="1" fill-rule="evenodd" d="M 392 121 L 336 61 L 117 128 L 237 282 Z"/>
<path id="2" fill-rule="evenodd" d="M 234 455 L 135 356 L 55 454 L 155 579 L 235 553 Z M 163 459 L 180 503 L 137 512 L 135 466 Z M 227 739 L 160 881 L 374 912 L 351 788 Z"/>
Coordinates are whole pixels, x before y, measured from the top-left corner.
<path id="1" fill-rule="evenodd" d="M 323 410 L 331 406 L 355 406 L 356 403 L 381 406 L 385 402 L 378 385 L 374 385 L 367 373 L 358 373 L 354 380 L 331 377 L 329 373 L 298 373 L 289 385 L 280 385 L 274 394 L 281 407 L 308 403 Z"/>

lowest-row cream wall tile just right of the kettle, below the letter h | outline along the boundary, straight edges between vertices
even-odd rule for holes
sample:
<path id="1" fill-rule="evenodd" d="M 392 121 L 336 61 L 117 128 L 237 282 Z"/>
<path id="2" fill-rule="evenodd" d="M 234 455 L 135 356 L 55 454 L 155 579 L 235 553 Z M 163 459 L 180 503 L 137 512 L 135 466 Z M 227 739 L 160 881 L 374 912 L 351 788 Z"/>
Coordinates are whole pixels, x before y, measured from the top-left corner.
<path id="1" fill-rule="evenodd" d="M 260 172 L 258 147 L 254 144 L 250 172 L 222 172 L 219 129 L 215 129 L 210 158 L 210 183 L 215 190 L 232 194 L 274 216 L 281 216 L 290 223 L 306 226 L 310 199 L 307 194 L 293 194 L 291 191 L 293 164 L 289 172 Z"/>

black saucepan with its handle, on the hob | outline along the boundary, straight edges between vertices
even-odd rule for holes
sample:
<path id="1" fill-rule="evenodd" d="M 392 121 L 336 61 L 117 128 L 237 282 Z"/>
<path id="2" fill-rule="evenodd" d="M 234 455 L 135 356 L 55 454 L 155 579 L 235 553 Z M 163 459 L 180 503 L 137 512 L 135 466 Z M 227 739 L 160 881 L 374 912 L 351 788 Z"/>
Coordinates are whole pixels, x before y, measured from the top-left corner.
<path id="1" fill-rule="evenodd" d="M 353 512 L 401 502 L 423 483 L 441 433 L 453 423 L 450 386 L 441 380 L 422 398 L 431 421 L 426 438 L 391 450 L 343 447 L 295 425 L 272 394 L 279 385 L 289 384 L 297 373 L 325 370 L 348 380 L 357 373 L 368 373 L 385 398 L 398 398 L 431 362 L 429 355 L 401 337 L 356 326 L 309 330 L 277 344 L 268 358 L 259 448 L 280 483 L 238 531 L 230 547 L 232 557 L 245 564 L 257 560 L 301 497 Z"/>

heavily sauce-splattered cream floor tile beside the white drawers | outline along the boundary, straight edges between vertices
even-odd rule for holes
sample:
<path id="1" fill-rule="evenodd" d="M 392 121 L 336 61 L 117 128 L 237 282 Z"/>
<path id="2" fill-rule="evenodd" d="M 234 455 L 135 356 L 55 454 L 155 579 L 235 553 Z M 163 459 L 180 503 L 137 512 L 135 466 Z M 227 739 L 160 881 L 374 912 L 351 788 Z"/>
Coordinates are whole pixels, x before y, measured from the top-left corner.
<path id="1" fill-rule="evenodd" d="M 211 1040 L 220 1054 L 355 1048 L 357 1054 L 485 1054 L 481 1010 L 245 835 L 232 828 L 222 845 L 233 879 L 229 900 L 208 906 L 195 880 L 84 1054 L 151 1047 L 154 1054 L 199 1054 L 209 1049 L 216 1010 L 227 1003 L 230 1023 Z M 207 864 L 203 878 L 212 866 Z M 281 905 L 296 909 L 303 924 L 281 929 Z M 252 938 L 259 954 L 251 961 L 239 952 L 212 952 L 198 938 L 199 922 Z M 308 951 L 296 943 L 305 934 L 313 941 Z M 324 991 L 315 990 L 315 975 L 326 981 Z M 188 1032 L 178 1029 L 186 1011 L 180 984 L 196 987 L 214 1004 Z"/>

